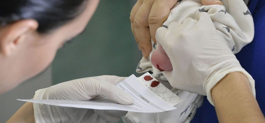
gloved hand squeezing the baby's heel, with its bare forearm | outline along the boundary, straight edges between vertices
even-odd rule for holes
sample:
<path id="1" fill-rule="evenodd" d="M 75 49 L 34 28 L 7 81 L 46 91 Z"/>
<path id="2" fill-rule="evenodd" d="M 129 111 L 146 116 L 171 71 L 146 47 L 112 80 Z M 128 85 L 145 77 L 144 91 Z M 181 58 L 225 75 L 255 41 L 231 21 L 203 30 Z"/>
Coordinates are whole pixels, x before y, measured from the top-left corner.
<path id="1" fill-rule="evenodd" d="M 265 121 L 255 99 L 255 81 L 206 12 L 160 27 L 156 39 L 172 63 L 172 71 L 162 72 L 171 86 L 207 95 L 219 122 Z"/>

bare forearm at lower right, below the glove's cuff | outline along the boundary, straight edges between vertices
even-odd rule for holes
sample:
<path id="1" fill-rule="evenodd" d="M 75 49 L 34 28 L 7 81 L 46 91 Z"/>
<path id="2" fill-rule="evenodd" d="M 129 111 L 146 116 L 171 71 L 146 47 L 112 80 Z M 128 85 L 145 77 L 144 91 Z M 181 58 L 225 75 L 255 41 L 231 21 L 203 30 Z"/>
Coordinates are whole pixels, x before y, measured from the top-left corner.
<path id="1" fill-rule="evenodd" d="M 243 73 L 227 74 L 214 86 L 211 94 L 220 123 L 265 122 Z"/>

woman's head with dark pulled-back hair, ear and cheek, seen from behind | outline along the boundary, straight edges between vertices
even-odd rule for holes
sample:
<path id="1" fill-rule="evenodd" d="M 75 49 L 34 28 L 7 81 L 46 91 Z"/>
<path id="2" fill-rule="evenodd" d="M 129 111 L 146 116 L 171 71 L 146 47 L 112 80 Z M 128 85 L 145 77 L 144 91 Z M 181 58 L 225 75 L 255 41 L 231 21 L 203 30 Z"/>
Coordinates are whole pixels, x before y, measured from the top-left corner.
<path id="1" fill-rule="evenodd" d="M 84 30 L 98 1 L 1 1 L 0 93 L 43 71 L 63 43 Z"/>

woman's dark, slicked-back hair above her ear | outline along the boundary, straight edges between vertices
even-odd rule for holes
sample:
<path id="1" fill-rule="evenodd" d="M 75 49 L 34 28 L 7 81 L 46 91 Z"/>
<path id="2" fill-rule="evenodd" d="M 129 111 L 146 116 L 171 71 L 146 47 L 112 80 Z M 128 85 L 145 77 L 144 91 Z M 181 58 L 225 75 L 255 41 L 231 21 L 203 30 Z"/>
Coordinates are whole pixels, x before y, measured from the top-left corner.
<path id="1" fill-rule="evenodd" d="M 47 33 L 81 14 L 88 0 L 1 0 L 0 26 L 35 19 L 38 32 Z"/>

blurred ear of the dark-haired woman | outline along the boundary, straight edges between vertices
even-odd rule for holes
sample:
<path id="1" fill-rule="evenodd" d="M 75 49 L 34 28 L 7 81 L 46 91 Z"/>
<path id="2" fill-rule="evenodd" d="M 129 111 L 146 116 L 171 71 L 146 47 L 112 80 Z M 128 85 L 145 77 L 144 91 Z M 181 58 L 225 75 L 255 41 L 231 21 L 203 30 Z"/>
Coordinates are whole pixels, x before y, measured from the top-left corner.
<path id="1" fill-rule="evenodd" d="M 26 19 L 0 28 L 0 54 L 12 54 L 19 45 L 23 44 L 23 37 L 36 31 L 38 26 L 37 21 Z"/>

